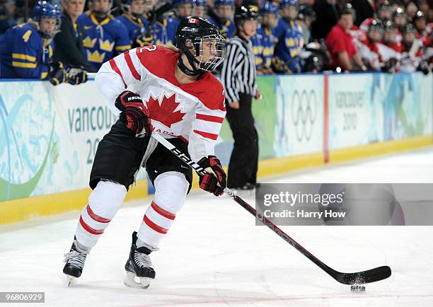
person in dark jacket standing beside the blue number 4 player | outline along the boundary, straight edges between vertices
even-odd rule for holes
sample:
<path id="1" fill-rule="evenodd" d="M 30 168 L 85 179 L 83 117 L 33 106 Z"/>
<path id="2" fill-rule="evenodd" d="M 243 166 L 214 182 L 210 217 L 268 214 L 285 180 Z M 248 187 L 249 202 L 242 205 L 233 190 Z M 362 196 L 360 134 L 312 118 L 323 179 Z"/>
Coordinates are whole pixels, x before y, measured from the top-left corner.
<path id="1" fill-rule="evenodd" d="M 86 81 L 86 71 L 91 66 L 86 61 L 83 49 L 83 29 L 76 24 L 76 18 L 83 13 L 84 0 L 64 0 L 60 33 L 54 37 L 54 61 L 65 67 L 75 68 L 74 80 L 78 83 Z M 71 71 L 72 72 L 72 71 Z"/>

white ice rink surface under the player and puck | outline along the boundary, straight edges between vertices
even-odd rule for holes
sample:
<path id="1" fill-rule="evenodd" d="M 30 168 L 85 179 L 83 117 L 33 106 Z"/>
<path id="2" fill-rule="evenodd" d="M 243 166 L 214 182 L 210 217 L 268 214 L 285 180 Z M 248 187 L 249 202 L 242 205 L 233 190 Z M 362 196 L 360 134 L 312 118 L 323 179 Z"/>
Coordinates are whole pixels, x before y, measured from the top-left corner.
<path id="1" fill-rule="evenodd" d="M 433 149 L 266 181 L 433 183 Z M 151 255 L 155 282 L 146 290 L 127 288 L 123 265 L 131 233 L 149 203 L 120 209 L 71 288 L 62 260 L 79 212 L 1 227 L 0 291 L 45 291 L 45 304 L 30 306 L 433 306 L 433 226 L 282 227 L 335 270 L 391 267 L 389 279 L 355 294 L 265 226 L 255 226 L 236 202 L 200 191 L 187 197 L 161 250 Z"/>

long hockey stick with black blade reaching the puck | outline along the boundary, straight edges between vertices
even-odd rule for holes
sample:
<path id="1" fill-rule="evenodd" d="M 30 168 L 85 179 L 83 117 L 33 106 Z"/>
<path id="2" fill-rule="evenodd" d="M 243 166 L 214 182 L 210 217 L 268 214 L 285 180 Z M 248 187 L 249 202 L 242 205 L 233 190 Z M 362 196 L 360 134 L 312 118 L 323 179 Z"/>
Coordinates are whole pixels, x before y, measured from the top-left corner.
<path id="1" fill-rule="evenodd" d="M 161 145 L 166 147 L 169 151 L 171 151 L 175 156 L 180 158 L 183 162 L 187 163 L 190 167 L 192 167 L 198 175 L 204 175 L 206 171 L 200 167 L 197 163 L 192 161 L 188 156 L 183 154 L 182 151 L 177 149 L 173 144 L 171 144 L 169 141 L 164 139 L 160 134 L 157 134 L 156 132 L 152 132 L 152 137 L 156 139 Z M 261 221 L 263 224 L 265 224 L 267 227 L 269 227 L 272 231 L 277 233 L 278 236 L 284 239 L 287 243 L 289 243 L 291 246 L 296 248 L 296 250 L 299 250 L 299 252 L 307 257 L 309 260 L 311 260 L 315 265 L 320 267 L 323 271 L 327 272 L 333 279 L 335 279 L 337 282 L 340 282 L 342 284 L 368 284 L 369 282 L 378 282 L 379 280 L 386 279 L 391 276 L 391 267 L 383 266 L 383 267 L 375 267 L 371 270 L 366 270 L 362 272 L 355 272 L 355 273 L 342 273 L 333 270 L 331 267 L 328 267 L 328 265 L 325 265 L 325 263 L 321 262 L 321 260 L 318 260 L 316 256 L 314 256 L 312 253 L 308 252 L 306 248 L 304 248 L 301 244 L 294 241 L 293 238 L 288 236 L 284 231 L 279 229 L 275 224 L 272 223 L 272 221 L 265 218 L 265 216 L 257 216 L 256 211 L 253 207 L 250 206 L 250 204 L 246 203 L 241 197 L 238 197 L 237 195 L 234 195 L 233 192 L 226 187 L 224 189 L 224 193 L 231 197 L 235 202 L 240 204 L 244 209 L 246 209 L 250 214 L 253 214 L 253 216 Z"/>

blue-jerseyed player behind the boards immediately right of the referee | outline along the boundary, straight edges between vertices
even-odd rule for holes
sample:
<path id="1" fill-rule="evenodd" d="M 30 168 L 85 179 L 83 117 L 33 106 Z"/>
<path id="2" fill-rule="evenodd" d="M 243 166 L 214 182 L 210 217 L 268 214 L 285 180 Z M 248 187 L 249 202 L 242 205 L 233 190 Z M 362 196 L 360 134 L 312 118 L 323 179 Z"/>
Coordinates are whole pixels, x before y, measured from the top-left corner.
<path id="1" fill-rule="evenodd" d="M 260 7 L 262 21 L 257 34 L 250 37 L 253 44 L 255 66 L 258 74 L 271 74 L 274 57 L 275 36 L 272 30 L 277 25 L 278 7 L 272 2 L 265 2 Z"/>

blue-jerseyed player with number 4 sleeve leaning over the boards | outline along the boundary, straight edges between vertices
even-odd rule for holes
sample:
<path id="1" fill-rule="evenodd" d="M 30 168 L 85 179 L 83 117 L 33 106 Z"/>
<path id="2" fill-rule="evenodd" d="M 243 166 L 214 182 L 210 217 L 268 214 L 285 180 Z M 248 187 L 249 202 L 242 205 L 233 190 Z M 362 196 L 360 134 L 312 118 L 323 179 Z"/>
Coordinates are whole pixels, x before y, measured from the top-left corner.
<path id="1" fill-rule="evenodd" d="M 28 23 L 6 31 L 0 43 L 0 78 L 48 79 L 54 85 L 67 81 L 63 64 L 52 62 L 60 15 L 58 6 L 37 1 Z"/>

